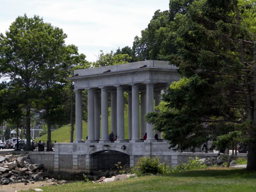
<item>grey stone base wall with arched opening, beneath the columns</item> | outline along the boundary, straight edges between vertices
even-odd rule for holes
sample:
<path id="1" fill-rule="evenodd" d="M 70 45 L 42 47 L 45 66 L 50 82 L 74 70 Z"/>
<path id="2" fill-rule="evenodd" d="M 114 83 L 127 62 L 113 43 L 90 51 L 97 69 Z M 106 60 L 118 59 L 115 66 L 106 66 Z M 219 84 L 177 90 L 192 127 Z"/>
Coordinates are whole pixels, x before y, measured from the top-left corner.
<path id="1" fill-rule="evenodd" d="M 55 152 L 31 152 L 29 157 L 33 163 L 44 164 L 47 170 L 56 173 L 90 173 L 92 170 L 110 169 L 118 162 L 122 162 L 122 166 L 125 164 L 125 167 L 136 166 L 138 159 L 143 156 L 157 156 L 161 162 L 172 167 L 186 163 L 189 157 L 197 156 L 202 159 L 218 156 L 213 153 L 175 152 L 169 146 L 166 142 L 108 143 L 108 145 L 56 143 Z"/>

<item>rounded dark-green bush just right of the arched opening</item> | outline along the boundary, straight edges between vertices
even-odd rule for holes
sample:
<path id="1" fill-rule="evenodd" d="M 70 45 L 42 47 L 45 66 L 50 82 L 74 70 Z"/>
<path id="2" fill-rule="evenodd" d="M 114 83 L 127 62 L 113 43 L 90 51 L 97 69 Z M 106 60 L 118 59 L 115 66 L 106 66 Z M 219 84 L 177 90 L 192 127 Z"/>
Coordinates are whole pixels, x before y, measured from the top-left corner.
<path id="1" fill-rule="evenodd" d="M 167 166 L 165 163 L 160 163 L 158 157 L 141 157 L 134 166 L 132 173 L 136 173 L 136 175 L 146 175 L 146 174 L 163 174 L 169 173 L 170 166 Z"/>

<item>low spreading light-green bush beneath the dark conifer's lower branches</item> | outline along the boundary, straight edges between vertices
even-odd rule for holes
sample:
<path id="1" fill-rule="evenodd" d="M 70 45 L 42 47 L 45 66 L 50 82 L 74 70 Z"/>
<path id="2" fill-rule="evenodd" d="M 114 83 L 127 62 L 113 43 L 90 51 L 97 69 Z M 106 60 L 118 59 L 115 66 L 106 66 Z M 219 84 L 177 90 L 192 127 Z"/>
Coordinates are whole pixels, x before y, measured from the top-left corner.
<path id="1" fill-rule="evenodd" d="M 188 170 L 198 170 L 202 168 L 206 168 L 207 166 L 205 164 L 202 164 L 202 162 L 198 159 L 198 157 L 195 157 L 195 159 L 192 159 L 189 157 L 188 163 L 178 164 L 175 166 L 175 168 L 172 168 L 172 173 L 177 172 L 184 172 Z"/>

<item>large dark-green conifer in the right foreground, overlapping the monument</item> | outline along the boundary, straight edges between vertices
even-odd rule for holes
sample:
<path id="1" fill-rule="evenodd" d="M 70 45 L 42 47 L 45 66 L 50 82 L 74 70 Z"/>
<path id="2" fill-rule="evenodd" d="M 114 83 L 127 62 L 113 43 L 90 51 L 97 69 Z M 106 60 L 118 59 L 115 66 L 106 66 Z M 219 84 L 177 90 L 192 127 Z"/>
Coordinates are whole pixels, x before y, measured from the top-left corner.
<path id="1" fill-rule="evenodd" d="M 256 170 L 256 4 L 201 0 L 185 10 L 170 10 L 175 49 L 165 52 L 182 79 L 147 120 L 181 149 L 236 133 L 248 144 L 247 169 Z"/>

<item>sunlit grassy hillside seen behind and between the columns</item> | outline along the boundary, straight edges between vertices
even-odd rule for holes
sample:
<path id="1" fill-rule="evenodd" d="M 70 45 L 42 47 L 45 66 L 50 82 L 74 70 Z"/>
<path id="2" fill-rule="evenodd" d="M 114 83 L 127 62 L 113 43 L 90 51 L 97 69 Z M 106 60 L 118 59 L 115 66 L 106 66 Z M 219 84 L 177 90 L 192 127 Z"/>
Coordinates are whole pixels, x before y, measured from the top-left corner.
<path id="1" fill-rule="evenodd" d="M 125 108 L 125 113 L 124 113 L 124 118 L 125 118 L 125 139 L 128 139 L 128 113 L 127 113 L 127 108 Z M 109 114 L 108 118 L 109 122 L 109 132 L 111 131 L 111 116 Z M 70 143 L 70 124 L 68 125 L 63 125 L 59 129 L 56 129 L 55 131 L 52 131 L 51 136 L 52 140 L 56 140 L 57 143 Z M 87 136 L 87 123 L 83 122 L 83 140 L 86 140 Z M 44 136 L 41 136 L 40 138 L 36 138 L 35 141 L 47 141 L 47 134 Z M 76 125 L 75 125 L 75 130 L 74 130 L 74 140 L 76 140 Z"/>

